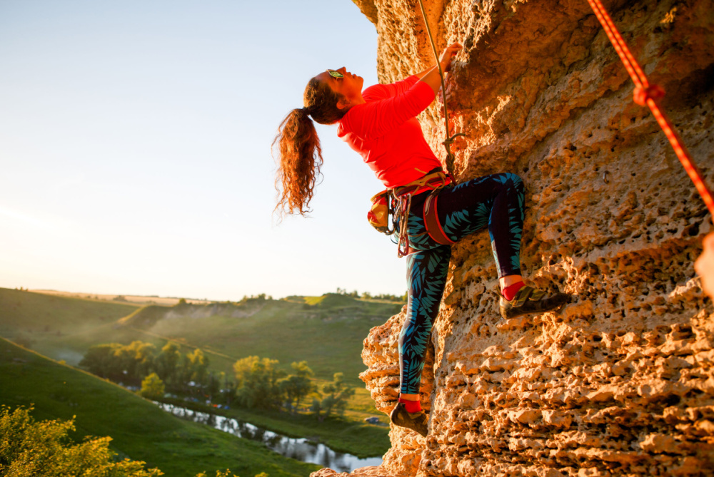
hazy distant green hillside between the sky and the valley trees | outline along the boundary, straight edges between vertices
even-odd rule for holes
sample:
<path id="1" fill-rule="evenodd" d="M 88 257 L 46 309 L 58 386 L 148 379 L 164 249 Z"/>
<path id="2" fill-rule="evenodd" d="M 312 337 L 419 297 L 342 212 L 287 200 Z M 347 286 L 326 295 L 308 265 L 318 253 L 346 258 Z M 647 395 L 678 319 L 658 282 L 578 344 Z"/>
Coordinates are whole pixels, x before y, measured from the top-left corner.
<path id="1" fill-rule="evenodd" d="M 70 364 L 94 344 L 141 340 L 161 347 L 171 339 L 200 347 L 217 371 L 231 373 L 237 359 L 253 355 L 278 359 L 286 370 L 306 360 L 318 379 L 341 371 L 361 387 L 362 341 L 401 306 L 325 294 L 137 308 L 0 289 L 0 335 Z"/>

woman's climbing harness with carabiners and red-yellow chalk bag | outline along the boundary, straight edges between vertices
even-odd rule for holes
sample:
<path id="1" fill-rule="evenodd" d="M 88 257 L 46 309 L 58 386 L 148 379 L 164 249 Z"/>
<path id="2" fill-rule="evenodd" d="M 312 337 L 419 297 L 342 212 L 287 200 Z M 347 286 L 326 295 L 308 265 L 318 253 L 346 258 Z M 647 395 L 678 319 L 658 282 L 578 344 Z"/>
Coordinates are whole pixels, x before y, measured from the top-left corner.
<path id="1" fill-rule="evenodd" d="M 411 212 L 411 198 L 413 196 L 431 191 L 424 202 L 424 223 L 428 235 L 440 244 L 452 244 L 443 232 L 436 215 L 436 199 L 438 191 L 451 185 L 452 179 L 442 170 L 434 170 L 421 178 L 401 185 L 398 188 L 386 189 L 373 196 L 372 207 L 367 214 L 367 220 L 372 227 L 385 235 L 392 235 L 397 231 L 398 242 L 397 256 L 404 257 L 413 250 L 409 247 L 408 219 Z M 389 226 L 389 216 L 392 216 L 392 225 Z"/>

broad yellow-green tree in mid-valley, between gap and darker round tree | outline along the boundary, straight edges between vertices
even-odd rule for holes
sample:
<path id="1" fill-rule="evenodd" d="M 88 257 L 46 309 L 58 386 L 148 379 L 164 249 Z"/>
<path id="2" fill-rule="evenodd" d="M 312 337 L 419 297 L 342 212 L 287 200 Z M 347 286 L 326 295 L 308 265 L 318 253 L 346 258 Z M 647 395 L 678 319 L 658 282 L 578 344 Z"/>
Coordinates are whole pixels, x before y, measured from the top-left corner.
<path id="1" fill-rule="evenodd" d="M 250 356 L 233 364 L 236 373 L 236 400 L 243 406 L 262 409 L 279 408 L 283 392 L 278 380 L 284 372 L 276 368 L 277 359 Z"/>

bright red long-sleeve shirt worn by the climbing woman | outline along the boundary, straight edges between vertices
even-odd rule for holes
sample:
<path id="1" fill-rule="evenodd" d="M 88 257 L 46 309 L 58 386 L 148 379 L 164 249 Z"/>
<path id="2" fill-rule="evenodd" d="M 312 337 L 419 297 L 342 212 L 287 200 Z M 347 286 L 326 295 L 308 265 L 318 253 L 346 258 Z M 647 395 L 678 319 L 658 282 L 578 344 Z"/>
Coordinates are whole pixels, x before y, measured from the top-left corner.
<path id="1" fill-rule="evenodd" d="M 338 125 L 337 135 L 362 155 L 386 188 L 441 168 L 415 117 L 434 99 L 431 87 L 418 79 L 370 86 L 362 93 L 366 103 L 350 108 Z"/>

